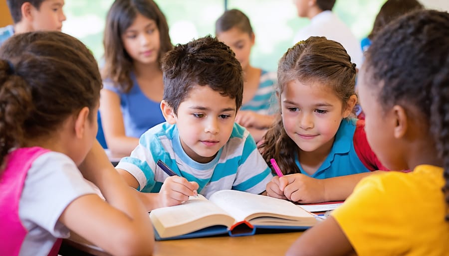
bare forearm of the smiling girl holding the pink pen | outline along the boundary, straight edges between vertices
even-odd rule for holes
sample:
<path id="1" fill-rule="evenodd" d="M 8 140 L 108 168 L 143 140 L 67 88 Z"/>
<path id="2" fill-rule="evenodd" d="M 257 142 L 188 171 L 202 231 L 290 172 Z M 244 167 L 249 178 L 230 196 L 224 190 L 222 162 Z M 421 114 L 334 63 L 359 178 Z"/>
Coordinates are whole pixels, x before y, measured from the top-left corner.
<path id="1" fill-rule="evenodd" d="M 362 178 L 377 172 L 379 171 L 363 172 L 346 176 L 323 179 L 324 201 L 346 200 L 346 198 L 348 198 L 348 196 L 354 190 L 354 187 Z"/>

